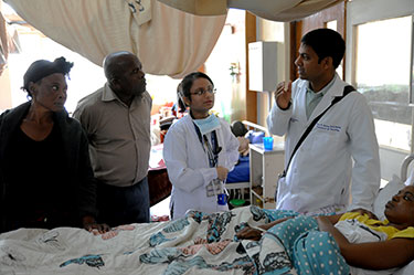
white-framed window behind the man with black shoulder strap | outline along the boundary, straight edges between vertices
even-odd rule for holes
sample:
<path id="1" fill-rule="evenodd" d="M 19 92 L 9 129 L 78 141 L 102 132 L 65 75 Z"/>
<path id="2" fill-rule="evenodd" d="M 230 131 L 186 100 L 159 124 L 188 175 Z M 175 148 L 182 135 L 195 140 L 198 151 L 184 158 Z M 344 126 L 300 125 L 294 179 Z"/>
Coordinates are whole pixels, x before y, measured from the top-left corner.
<path id="1" fill-rule="evenodd" d="M 372 108 L 385 180 L 397 174 L 403 159 L 414 151 L 413 15 L 413 0 L 347 2 L 346 81 Z"/>

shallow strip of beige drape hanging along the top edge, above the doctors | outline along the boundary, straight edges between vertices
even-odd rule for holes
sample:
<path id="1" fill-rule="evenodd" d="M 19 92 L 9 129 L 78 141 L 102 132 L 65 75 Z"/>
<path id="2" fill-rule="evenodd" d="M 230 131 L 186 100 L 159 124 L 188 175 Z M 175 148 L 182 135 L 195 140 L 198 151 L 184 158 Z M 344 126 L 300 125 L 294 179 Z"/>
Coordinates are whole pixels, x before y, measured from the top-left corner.
<path id="1" fill-rule="evenodd" d="M 294 21 L 343 0 L 158 0 L 197 15 L 226 14 L 229 8 L 250 12 L 273 21 Z"/>

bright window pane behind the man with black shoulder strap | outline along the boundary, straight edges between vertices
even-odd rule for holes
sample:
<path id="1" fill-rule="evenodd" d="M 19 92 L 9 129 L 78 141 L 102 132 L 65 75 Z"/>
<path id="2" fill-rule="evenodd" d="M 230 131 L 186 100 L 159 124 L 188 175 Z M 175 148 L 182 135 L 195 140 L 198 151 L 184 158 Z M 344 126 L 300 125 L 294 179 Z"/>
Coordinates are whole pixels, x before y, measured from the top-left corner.
<path id="1" fill-rule="evenodd" d="M 355 83 L 368 98 L 381 146 L 410 151 L 412 17 L 357 27 Z"/>

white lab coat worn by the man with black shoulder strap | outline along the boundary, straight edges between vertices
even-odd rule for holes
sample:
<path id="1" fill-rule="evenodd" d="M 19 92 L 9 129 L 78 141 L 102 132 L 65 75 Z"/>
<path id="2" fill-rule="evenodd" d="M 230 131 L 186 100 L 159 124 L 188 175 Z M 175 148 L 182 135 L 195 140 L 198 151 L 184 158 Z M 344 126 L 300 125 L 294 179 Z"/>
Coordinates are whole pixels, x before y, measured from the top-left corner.
<path id="1" fill-rule="evenodd" d="M 270 133 L 283 136 L 285 166 L 307 126 L 321 114 L 347 84 L 336 75 L 309 119 L 306 117 L 308 82 L 291 85 L 293 105 L 282 110 L 275 104 L 267 117 Z M 352 167 L 352 159 L 354 161 Z M 352 178 L 352 202 L 350 187 Z M 314 212 L 332 205 L 372 209 L 380 187 L 379 146 L 372 113 L 365 97 L 352 92 L 330 108 L 295 154 L 286 178 L 277 188 L 277 209 Z"/>

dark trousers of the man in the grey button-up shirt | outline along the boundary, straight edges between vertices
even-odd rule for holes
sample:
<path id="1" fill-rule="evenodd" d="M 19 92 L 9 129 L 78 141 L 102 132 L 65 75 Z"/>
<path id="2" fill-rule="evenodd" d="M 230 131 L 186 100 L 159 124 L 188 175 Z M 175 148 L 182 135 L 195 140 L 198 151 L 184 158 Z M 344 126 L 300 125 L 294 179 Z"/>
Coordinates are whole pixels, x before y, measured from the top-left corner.
<path id="1" fill-rule="evenodd" d="M 98 221 L 109 226 L 149 222 L 148 179 L 130 187 L 98 183 Z"/>

